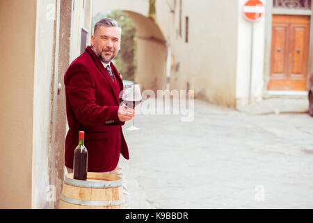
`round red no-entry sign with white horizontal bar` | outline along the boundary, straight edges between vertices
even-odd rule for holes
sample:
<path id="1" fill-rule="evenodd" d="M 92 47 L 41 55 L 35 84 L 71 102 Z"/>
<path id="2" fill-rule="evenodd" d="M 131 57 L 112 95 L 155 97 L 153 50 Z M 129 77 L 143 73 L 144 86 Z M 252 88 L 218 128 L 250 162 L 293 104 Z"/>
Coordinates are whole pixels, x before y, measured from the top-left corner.
<path id="1" fill-rule="evenodd" d="M 259 0 L 248 0 L 243 6 L 243 15 L 249 21 L 260 20 L 264 15 L 264 4 Z"/>

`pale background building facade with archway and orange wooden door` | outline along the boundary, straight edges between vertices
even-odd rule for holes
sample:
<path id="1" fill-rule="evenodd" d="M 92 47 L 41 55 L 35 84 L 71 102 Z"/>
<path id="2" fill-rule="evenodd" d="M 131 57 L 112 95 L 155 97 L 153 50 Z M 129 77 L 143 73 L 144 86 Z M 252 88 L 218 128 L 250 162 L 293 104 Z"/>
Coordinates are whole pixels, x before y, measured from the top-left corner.
<path id="1" fill-rule="evenodd" d="M 265 13 L 254 22 L 253 37 L 245 3 L 95 0 L 93 15 L 122 10 L 134 20 L 136 81 L 143 89 L 166 89 L 169 82 L 171 90 L 194 89 L 196 98 L 230 107 L 271 95 L 305 96 L 312 71 L 311 1 L 262 0 Z"/>

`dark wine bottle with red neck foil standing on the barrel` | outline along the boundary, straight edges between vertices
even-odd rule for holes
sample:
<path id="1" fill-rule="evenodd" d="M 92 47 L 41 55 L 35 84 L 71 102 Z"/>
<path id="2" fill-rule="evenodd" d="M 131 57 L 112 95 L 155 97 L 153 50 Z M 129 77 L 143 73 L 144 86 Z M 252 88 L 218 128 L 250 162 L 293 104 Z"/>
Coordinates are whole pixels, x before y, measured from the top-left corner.
<path id="1" fill-rule="evenodd" d="M 88 151 L 83 144 L 85 132 L 79 131 L 79 144 L 74 150 L 74 179 L 87 180 Z"/>

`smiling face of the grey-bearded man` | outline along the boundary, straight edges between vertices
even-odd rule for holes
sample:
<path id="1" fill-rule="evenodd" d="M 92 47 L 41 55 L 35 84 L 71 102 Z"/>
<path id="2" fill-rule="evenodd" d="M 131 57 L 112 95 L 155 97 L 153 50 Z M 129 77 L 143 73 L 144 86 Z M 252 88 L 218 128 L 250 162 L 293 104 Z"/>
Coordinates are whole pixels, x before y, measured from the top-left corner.
<path id="1" fill-rule="evenodd" d="M 91 36 L 91 46 L 104 63 L 109 63 L 120 50 L 120 29 L 118 27 L 100 26 Z"/>

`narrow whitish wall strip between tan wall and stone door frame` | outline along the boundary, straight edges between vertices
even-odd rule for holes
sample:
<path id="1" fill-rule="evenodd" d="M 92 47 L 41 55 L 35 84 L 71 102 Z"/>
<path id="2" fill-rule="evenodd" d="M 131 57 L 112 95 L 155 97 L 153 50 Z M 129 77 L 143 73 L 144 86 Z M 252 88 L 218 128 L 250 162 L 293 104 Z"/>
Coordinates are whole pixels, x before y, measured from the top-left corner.
<path id="1" fill-rule="evenodd" d="M 54 193 L 53 99 L 57 1 L 37 1 L 33 82 L 32 208 L 49 208 Z M 53 199 L 53 197 L 51 198 Z"/>

